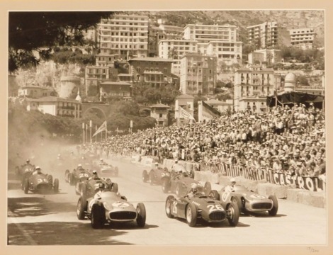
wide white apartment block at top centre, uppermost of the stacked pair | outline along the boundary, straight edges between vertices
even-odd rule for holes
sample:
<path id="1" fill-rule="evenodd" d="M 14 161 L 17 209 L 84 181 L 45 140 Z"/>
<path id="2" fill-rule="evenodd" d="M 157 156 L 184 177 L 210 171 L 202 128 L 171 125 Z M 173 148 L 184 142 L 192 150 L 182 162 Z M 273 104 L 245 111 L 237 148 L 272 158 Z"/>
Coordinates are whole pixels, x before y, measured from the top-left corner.
<path id="1" fill-rule="evenodd" d="M 188 24 L 184 28 L 184 39 L 210 42 L 213 40 L 223 42 L 237 41 L 237 26 L 233 25 L 203 25 L 202 23 Z"/>

